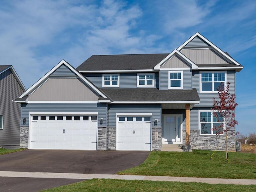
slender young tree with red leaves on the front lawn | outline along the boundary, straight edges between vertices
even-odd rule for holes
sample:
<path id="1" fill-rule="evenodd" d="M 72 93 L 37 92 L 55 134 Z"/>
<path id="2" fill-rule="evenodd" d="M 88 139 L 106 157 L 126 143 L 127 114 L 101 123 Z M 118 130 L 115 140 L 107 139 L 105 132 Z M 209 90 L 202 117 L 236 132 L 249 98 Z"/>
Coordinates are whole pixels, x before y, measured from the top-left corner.
<path id="1" fill-rule="evenodd" d="M 226 82 L 217 88 L 218 99 L 213 98 L 213 116 L 216 124 L 213 130 L 216 135 L 224 134 L 226 136 L 226 159 L 228 160 L 228 131 L 235 127 L 238 122 L 235 120 L 236 95 L 229 93 L 230 82 Z"/>

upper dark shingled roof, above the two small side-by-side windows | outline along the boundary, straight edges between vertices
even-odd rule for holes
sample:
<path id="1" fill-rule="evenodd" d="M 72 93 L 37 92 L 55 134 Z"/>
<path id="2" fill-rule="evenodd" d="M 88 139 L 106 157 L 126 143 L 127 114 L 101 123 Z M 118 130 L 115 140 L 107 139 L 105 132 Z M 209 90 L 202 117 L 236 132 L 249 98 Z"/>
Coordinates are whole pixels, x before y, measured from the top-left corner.
<path id="1" fill-rule="evenodd" d="M 146 70 L 153 69 L 168 54 L 93 55 L 78 71 L 90 70 Z"/>

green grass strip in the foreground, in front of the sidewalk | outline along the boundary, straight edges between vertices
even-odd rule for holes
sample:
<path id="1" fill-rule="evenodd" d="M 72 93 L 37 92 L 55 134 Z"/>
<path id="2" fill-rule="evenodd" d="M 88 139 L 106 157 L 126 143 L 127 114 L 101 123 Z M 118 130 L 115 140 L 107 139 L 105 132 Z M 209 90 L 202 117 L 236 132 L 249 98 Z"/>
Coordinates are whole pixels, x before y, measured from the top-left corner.
<path id="1" fill-rule="evenodd" d="M 241 192 L 255 191 L 255 185 L 206 184 L 138 180 L 92 179 L 42 192 Z"/>

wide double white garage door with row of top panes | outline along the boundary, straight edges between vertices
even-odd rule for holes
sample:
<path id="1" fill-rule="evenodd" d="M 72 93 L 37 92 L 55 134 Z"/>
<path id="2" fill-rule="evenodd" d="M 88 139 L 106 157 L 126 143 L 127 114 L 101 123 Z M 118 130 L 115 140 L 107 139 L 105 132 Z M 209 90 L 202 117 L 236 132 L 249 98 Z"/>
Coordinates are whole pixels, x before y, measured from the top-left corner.
<path id="1" fill-rule="evenodd" d="M 97 115 L 32 115 L 30 149 L 97 150 Z"/>

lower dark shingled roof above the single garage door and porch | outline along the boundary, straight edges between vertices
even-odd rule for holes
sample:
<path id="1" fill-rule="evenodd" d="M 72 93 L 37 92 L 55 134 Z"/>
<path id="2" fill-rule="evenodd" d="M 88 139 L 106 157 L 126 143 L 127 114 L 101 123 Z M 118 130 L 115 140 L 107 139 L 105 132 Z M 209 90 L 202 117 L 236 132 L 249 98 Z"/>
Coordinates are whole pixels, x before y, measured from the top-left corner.
<path id="1" fill-rule="evenodd" d="M 159 90 L 157 88 L 101 89 L 112 101 L 131 102 L 196 102 L 200 98 L 196 89 Z M 100 98 L 99 98 L 100 100 Z"/>

